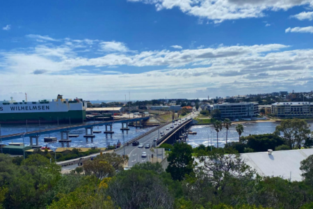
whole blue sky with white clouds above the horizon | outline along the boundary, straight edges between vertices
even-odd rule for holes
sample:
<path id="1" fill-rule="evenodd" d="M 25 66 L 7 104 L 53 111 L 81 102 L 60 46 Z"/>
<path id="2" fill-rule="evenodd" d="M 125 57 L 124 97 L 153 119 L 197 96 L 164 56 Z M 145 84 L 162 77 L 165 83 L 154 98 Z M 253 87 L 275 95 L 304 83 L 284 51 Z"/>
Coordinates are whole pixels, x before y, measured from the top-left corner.
<path id="1" fill-rule="evenodd" d="M 313 0 L 47 0 L 0 7 L 0 100 L 312 91 Z"/>

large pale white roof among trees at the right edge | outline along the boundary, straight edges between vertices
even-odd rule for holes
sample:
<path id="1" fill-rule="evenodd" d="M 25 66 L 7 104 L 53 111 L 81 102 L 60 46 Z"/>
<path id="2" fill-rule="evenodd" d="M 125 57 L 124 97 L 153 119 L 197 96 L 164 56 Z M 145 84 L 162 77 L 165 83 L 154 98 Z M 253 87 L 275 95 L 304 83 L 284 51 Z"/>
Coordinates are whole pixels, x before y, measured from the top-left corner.
<path id="1" fill-rule="evenodd" d="M 264 153 L 243 153 L 246 164 L 261 176 L 280 176 L 284 179 L 302 180 L 300 162 L 313 155 L 313 149 L 273 151 L 272 155 Z"/>

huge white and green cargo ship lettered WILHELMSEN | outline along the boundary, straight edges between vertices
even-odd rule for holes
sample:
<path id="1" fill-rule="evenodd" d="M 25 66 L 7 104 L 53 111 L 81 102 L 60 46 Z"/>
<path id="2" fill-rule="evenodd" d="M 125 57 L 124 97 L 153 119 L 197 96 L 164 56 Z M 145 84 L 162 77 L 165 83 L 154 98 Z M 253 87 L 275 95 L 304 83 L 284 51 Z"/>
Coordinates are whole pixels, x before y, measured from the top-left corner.
<path id="1" fill-rule="evenodd" d="M 38 102 L 0 101 L 0 123 L 81 123 L 86 120 L 87 104 L 82 99 L 63 99 Z"/>

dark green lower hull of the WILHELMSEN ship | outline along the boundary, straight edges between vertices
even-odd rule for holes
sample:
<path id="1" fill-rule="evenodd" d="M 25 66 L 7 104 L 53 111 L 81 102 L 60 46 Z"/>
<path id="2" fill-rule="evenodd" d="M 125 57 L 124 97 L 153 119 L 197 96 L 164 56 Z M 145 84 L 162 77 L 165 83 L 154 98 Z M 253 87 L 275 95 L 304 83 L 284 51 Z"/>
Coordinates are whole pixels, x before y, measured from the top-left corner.
<path id="1" fill-rule="evenodd" d="M 81 123 L 86 120 L 85 110 L 72 110 L 62 112 L 31 112 L 0 114 L 0 123 Z"/>

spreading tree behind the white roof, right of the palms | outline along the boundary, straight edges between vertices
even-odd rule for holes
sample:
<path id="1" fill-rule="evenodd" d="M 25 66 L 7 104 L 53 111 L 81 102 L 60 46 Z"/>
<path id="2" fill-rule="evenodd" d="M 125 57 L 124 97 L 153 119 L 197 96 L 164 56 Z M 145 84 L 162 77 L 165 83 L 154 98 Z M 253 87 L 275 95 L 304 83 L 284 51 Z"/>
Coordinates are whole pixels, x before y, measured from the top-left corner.
<path id="1" fill-rule="evenodd" d="M 287 119 L 276 126 L 277 132 L 283 132 L 283 137 L 287 141 L 290 148 L 301 148 L 303 141 L 309 137 L 311 133 L 310 125 L 306 121 L 300 119 Z"/>

